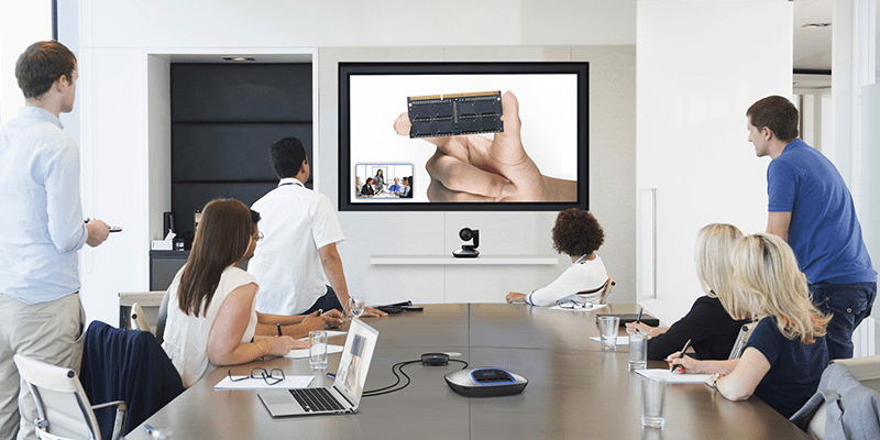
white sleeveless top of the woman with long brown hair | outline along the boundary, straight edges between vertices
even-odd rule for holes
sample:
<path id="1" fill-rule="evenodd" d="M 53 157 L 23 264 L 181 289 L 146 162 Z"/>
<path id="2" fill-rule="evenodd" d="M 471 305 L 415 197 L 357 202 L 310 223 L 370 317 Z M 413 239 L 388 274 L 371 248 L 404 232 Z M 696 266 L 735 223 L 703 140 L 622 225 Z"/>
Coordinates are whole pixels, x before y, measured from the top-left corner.
<path id="1" fill-rule="evenodd" d="M 186 267 L 186 266 L 184 266 Z M 220 306 L 229 294 L 245 284 L 256 284 L 256 278 L 239 267 L 229 266 L 220 276 L 220 284 L 217 285 L 211 305 L 207 312 L 204 308 L 199 317 L 184 314 L 178 307 L 177 290 L 180 285 L 180 276 L 184 267 L 177 272 L 172 285 L 168 286 L 168 320 L 165 323 L 164 341 L 162 348 L 170 358 L 185 387 L 189 387 L 206 374 L 212 372 L 216 366 L 208 360 L 208 341 L 210 340 L 211 326 L 217 319 Z M 241 342 L 250 342 L 256 330 L 256 308 L 251 304 L 251 319 L 248 328 L 241 338 Z"/>

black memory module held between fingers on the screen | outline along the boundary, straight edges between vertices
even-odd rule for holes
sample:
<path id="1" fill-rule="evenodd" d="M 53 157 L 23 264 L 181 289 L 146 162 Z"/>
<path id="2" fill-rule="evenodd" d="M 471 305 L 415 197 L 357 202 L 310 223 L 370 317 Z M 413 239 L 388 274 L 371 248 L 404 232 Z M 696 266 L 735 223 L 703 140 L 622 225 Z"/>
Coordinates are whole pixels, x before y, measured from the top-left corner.
<path id="1" fill-rule="evenodd" d="M 408 97 L 407 108 L 409 138 L 504 131 L 501 91 Z"/>

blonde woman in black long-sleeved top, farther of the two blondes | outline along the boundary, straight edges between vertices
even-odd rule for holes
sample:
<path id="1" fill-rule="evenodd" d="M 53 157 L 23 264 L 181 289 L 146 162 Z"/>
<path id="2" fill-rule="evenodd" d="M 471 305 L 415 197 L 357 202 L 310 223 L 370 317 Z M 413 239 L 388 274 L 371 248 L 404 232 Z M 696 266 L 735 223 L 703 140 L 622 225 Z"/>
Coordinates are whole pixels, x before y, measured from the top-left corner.
<path id="1" fill-rule="evenodd" d="M 726 360 L 730 355 L 740 328 L 751 319 L 730 318 L 717 292 L 732 288 L 729 253 L 740 237 L 743 232 L 732 224 L 710 224 L 700 230 L 694 262 L 705 295 L 672 327 L 650 327 L 644 322 L 626 324 L 627 331 L 638 330 L 652 337 L 648 340 L 648 359 L 666 359 L 681 350 L 689 339 L 697 359 Z"/>

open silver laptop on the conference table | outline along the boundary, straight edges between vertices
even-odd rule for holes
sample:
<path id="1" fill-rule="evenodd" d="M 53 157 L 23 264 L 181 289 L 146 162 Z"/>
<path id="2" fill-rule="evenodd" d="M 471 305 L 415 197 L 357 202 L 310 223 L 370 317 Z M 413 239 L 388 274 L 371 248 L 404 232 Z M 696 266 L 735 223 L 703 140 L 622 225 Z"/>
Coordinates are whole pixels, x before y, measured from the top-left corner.
<path id="1" fill-rule="evenodd" d="M 378 331 L 358 318 L 351 320 L 333 386 L 257 393 L 272 417 L 358 413 Z"/>

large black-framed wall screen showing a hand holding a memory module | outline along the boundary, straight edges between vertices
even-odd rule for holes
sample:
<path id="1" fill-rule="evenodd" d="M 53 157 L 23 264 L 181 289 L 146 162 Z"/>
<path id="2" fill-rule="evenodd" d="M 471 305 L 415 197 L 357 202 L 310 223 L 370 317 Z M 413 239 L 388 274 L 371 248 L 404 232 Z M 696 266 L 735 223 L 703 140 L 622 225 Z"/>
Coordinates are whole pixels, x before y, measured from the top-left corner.
<path id="1" fill-rule="evenodd" d="M 340 63 L 340 210 L 588 209 L 587 63 Z"/>

